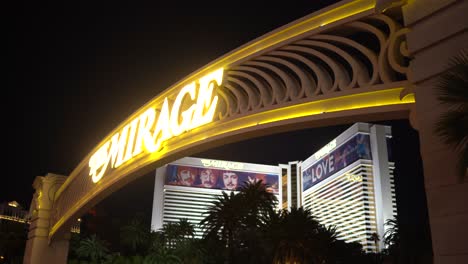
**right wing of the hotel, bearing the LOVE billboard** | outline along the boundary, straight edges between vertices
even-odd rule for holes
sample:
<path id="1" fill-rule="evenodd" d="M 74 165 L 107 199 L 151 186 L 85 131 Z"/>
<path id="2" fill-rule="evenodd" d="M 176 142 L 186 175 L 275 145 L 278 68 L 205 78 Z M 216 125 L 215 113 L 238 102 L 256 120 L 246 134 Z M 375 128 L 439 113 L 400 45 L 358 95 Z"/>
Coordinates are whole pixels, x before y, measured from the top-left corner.
<path id="1" fill-rule="evenodd" d="M 389 126 L 356 123 L 300 163 L 298 204 L 335 226 L 339 239 L 359 242 L 368 252 L 383 248 L 385 221 L 396 216 L 390 137 Z"/>

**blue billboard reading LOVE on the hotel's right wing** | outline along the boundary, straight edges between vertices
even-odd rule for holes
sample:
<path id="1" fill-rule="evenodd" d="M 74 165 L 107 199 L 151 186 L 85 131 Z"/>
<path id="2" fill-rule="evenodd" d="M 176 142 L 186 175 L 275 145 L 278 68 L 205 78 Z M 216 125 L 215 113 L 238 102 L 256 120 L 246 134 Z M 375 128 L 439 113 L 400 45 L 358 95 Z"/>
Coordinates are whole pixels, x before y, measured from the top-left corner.
<path id="1" fill-rule="evenodd" d="M 355 135 L 312 166 L 305 168 L 302 172 L 302 190 L 309 189 L 359 159 L 372 159 L 369 135 Z"/>

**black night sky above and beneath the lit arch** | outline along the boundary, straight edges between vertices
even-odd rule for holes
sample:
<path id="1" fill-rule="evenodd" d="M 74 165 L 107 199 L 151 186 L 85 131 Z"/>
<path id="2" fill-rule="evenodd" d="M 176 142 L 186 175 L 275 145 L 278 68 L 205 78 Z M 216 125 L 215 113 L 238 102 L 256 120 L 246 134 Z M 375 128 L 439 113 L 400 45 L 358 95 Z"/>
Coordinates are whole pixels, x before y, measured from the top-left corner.
<path id="1" fill-rule="evenodd" d="M 35 176 L 68 175 L 112 129 L 162 90 L 335 2 L 17 3 L 12 34 L 5 38 L 7 158 L 0 202 L 17 200 L 28 207 Z M 380 123 L 393 127 L 399 213 L 412 225 L 427 225 L 417 132 L 406 120 Z M 272 165 L 304 160 L 350 125 L 252 139 L 197 156 Z M 112 211 L 138 201 L 141 208 L 134 211 L 148 210 L 153 181 L 144 176 L 102 206 Z"/>

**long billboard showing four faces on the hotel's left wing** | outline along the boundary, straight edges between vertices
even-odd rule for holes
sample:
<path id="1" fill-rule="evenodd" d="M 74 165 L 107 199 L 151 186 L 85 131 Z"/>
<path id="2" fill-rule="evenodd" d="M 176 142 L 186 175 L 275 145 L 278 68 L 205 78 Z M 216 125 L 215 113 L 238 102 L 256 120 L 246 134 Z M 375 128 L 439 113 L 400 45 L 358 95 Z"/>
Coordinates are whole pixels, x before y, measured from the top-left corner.
<path id="1" fill-rule="evenodd" d="M 260 180 L 267 185 L 268 191 L 279 194 L 278 175 L 209 167 L 169 164 L 165 184 L 235 191 L 247 182 Z"/>

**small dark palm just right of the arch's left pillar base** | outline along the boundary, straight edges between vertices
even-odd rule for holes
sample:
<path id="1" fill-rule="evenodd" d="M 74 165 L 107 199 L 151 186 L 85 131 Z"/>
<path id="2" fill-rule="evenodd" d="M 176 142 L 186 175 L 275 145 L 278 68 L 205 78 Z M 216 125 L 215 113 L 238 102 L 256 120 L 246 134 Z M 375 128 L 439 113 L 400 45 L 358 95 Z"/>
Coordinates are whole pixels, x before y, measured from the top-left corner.
<path id="1" fill-rule="evenodd" d="M 99 239 L 95 234 L 82 239 L 76 249 L 76 254 L 79 258 L 89 259 L 95 263 L 104 260 L 108 253 L 108 243 Z"/>

